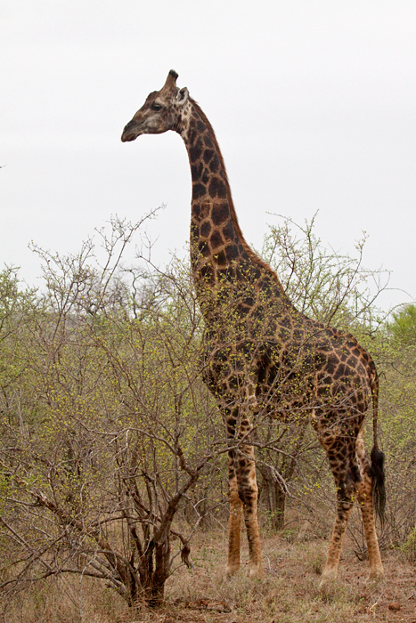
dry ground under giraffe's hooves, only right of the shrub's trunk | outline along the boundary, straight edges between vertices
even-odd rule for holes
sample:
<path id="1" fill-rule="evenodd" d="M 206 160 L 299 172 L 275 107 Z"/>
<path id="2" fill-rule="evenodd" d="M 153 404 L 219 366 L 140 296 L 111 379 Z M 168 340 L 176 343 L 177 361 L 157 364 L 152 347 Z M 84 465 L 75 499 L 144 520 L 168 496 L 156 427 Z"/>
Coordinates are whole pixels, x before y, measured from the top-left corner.
<path id="1" fill-rule="evenodd" d="M 416 623 L 416 573 L 400 551 L 383 553 L 386 578 L 367 582 L 368 562 L 352 544 L 344 546 L 339 579 L 319 589 L 327 542 L 263 540 L 265 579 L 250 580 L 248 563 L 224 578 L 225 542 L 207 535 L 192 553 L 195 570 L 177 570 L 167 584 L 163 611 L 144 612 L 136 621 L 174 623 Z M 243 560 L 247 561 L 244 553 Z"/>

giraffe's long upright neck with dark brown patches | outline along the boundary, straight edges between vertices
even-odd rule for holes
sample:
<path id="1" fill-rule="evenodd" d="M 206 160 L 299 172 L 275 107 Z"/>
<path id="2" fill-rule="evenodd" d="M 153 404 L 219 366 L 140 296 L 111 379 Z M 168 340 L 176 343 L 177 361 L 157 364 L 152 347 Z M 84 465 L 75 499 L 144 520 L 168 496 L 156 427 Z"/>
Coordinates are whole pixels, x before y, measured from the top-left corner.
<path id="1" fill-rule="evenodd" d="M 245 241 L 216 135 L 199 105 L 190 99 L 178 126 L 192 172 L 191 260 L 200 295 L 224 283 L 267 282 L 286 299 L 277 276 Z M 261 279 L 263 275 L 263 279 Z"/>

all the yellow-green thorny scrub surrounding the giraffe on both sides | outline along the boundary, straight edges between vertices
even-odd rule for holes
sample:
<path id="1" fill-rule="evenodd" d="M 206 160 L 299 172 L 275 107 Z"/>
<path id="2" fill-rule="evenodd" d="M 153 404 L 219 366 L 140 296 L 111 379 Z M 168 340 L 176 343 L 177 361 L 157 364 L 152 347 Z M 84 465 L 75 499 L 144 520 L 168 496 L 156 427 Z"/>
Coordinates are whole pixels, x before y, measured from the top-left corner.
<path id="1" fill-rule="evenodd" d="M 93 578 L 129 604 L 158 604 L 169 574 L 192 566 L 194 531 L 226 522 L 227 443 L 200 374 L 204 327 L 189 265 L 174 259 L 164 272 L 149 263 L 123 270 L 120 258 L 140 224 L 114 219 L 110 235 L 100 233 L 101 264 L 91 240 L 77 255 L 36 249 L 44 265 L 37 292 L 21 290 L 16 271 L 0 274 L 5 606 L 64 574 Z M 293 223 L 272 228 L 265 259 L 300 311 L 351 331 L 376 360 L 387 454 L 384 543 L 412 552 L 412 331 L 406 325 L 405 339 L 398 336 L 374 307 L 378 290 L 367 285 L 378 273 L 362 268 L 363 243 L 355 260 L 327 252 L 313 225 L 298 228 L 298 237 Z M 328 465 L 307 424 L 274 420 L 265 409 L 251 440 L 260 519 L 292 540 L 305 521 L 288 527 L 287 506 L 290 520 L 303 515 L 320 535 L 334 508 Z M 360 530 L 353 536 L 359 544 Z"/>

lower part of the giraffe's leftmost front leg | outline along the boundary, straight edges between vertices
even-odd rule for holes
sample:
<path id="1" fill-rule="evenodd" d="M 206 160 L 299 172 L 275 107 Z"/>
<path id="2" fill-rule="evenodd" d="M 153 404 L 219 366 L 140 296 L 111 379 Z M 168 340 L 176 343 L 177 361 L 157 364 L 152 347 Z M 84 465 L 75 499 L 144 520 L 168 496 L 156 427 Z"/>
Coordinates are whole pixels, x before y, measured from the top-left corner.
<path id="1" fill-rule="evenodd" d="M 234 453 L 235 450 L 231 450 L 228 453 L 228 496 L 230 499 L 230 519 L 228 524 L 227 576 L 232 576 L 240 568 L 242 502 L 239 496 L 237 475 L 234 468 Z"/>

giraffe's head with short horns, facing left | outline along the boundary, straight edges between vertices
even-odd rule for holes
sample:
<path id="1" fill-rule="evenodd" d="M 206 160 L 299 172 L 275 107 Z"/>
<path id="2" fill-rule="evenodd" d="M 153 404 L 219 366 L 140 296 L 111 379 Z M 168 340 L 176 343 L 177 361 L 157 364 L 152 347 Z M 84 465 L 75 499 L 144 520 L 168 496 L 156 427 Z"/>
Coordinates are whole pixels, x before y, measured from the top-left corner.
<path id="1" fill-rule="evenodd" d="M 171 69 L 160 91 L 147 96 L 142 108 L 124 128 L 122 142 L 134 141 L 141 134 L 162 134 L 178 129 L 189 93 L 186 86 L 182 89 L 176 86 L 176 78 L 176 72 Z"/>

